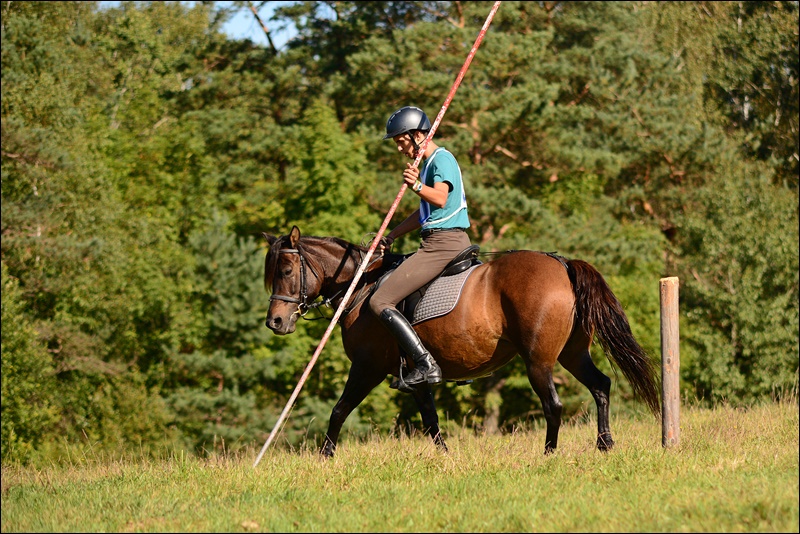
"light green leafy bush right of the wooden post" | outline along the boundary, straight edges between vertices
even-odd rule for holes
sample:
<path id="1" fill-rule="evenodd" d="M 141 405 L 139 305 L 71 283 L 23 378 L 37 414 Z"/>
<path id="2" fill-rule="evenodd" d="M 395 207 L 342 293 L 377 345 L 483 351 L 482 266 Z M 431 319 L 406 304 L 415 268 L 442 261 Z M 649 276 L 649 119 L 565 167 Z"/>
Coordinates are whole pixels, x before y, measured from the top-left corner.
<path id="1" fill-rule="evenodd" d="M 798 198 L 758 165 L 727 170 L 679 219 L 685 376 L 701 398 L 753 400 L 796 380 Z"/>

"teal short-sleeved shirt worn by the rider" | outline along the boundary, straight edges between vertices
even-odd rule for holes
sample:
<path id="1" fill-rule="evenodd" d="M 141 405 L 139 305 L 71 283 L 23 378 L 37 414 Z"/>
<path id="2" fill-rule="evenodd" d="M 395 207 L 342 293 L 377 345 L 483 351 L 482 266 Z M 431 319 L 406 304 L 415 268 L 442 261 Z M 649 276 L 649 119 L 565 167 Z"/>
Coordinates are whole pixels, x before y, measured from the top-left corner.
<path id="1" fill-rule="evenodd" d="M 455 156 L 445 148 L 437 148 L 431 157 L 425 160 L 420 170 L 420 181 L 428 187 L 439 182 L 450 184 L 447 202 L 441 208 L 432 206 L 424 200 L 419 202 L 419 222 L 422 230 L 431 228 L 469 228 L 467 214 L 467 195 L 464 192 L 464 181 L 461 168 Z"/>

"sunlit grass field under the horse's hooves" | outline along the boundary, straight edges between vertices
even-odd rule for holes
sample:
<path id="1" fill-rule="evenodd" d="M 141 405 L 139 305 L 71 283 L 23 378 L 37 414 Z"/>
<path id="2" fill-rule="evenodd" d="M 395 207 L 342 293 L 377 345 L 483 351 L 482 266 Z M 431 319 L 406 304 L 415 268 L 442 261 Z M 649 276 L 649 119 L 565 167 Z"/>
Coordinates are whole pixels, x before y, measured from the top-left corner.
<path id="1" fill-rule="evenodd" d="M 653 418 L 612 419 L 616 448 L 595 450 L 593 421 L 544 431 L 450 432 L 256 450 L 201 460 L 4 466 L 2 531 L 112 532 L 798 532 L 798 405 L 684 408 L 681 442 L 661 447 Z M 260 445 L 260 444 L 259 444 Z"/>

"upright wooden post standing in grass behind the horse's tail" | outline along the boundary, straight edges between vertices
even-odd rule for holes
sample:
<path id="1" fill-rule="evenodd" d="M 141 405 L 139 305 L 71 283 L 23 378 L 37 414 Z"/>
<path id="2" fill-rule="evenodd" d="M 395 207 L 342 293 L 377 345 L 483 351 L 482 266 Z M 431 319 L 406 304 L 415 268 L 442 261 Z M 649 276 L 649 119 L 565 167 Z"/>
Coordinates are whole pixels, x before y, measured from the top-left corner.
<path id="1" fill-rule="evenodd" d="M 678 333 L 678 278 L 659 281 L 661 293 L 661 445 L 672 447 L 681 439 L 680 348 Z"/>

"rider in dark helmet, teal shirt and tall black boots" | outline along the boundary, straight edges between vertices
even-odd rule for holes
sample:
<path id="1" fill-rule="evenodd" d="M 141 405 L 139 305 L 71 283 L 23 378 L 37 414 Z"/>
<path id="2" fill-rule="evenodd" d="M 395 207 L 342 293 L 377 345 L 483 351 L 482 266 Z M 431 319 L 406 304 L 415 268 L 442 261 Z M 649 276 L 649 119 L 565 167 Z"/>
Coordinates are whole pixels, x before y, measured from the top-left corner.
<path id="1" fill-rule="evenodd" d="M 391 138 L 401 154 L 414 160 L 430 129 L 431 122 L 421 109 L 406 106 L 389 117 L 383 138 Z M 442 381 L 442 370 L 396 306 L 436 278 L 459 252 L 470 246 L 465 232 L 470 225 L 467 197 L 456 158 L 433 141 L 428 142 L 422 156 L 425 160 L 422 169 L 406 163 L 403 171 L 403 180 L 419 196 L 419 209 L 382 237 L 379 248 L 383 253 L 395 239 L 419 228 L 422 242 L 375 291 L 369 304 L 414 360 L 415 368 L 402 377 L 408 385 L 438 384 Z"/>

